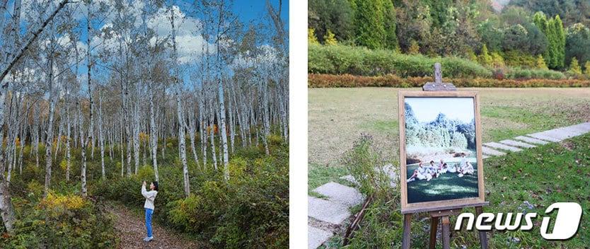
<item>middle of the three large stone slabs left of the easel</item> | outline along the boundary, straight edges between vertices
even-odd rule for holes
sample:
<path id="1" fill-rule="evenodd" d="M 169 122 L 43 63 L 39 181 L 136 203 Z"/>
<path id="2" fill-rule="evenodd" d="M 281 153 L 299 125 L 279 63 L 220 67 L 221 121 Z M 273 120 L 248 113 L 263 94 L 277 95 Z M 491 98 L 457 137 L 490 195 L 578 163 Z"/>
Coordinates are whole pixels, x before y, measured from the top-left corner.
<path id="1" fill-rule="evenodd" d="M 307 215 L 320 221 L 340 225 L 352 214 L 345 204 L 308 196 Z"/>

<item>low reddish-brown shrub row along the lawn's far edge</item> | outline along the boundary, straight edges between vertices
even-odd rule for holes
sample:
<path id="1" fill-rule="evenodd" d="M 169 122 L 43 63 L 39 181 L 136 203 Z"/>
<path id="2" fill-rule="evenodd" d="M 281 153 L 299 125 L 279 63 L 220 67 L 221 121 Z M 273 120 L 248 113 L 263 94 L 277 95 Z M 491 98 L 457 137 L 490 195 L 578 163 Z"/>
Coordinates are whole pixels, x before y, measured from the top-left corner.
<path id="1" fill-rule="evenodd" d="M 308 74 L 308 87 L 310 88 L 332 88 L 332 87 L 422 87 L 424 83 L 434 81 L 432 77 L 407 77 L 401 78 L 395 75 L 384 76 L 355 76 L 350 74 Z M 449 79 L 444 82 L 451 82 L 457 87 L 589 87 L 590 80 L 582 79 Z"/>

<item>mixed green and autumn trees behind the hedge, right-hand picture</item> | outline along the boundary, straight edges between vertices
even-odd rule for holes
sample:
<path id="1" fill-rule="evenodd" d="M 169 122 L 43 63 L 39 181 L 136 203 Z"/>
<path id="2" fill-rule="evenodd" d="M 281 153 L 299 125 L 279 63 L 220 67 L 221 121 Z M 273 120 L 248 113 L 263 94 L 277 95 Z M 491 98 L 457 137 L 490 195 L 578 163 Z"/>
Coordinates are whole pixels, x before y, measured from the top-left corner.
<path id="1" fill-rule="evenodd" d="M 492 67 L 565 70 L 572 63 L 590 62 L 587 1 L 519 0 L 501 11 L 494 4 L 490 0 L 311 1 L 308 40 L 457 56 Z"/>

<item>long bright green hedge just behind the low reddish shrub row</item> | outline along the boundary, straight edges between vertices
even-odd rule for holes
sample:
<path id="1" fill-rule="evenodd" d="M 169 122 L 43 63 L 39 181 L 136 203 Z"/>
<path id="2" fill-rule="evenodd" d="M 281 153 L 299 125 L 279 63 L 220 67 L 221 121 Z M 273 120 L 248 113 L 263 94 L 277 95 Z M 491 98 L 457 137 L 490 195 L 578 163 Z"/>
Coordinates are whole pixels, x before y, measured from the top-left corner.
<path id="1" fill-rule="evenodd" d="M 308 45 L 308 72 L 312 74 L 353 74 L 400 77 L 431 76 L 432 65 L 440 62 L 444 76 L 490 78 L 492 71 L 478 63 L 458 57 L 425 57 L 392 50 L 368 50 L 344 45 Z"/>

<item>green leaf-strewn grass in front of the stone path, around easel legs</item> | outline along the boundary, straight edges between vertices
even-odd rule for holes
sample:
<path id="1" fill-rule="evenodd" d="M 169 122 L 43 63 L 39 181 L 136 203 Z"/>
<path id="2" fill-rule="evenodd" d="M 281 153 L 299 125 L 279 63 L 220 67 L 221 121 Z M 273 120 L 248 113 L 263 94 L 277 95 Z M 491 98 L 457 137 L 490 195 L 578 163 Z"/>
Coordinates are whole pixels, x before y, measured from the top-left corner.
<path id="1" fill-rule="evenodd" d="M 490 206 L 484 212 L 497 214 L 536 212 L 531 231 L 494 231 L 487 233 L 490 248 L 587 248 L 590 241 L 590 134 L 574 137 L 561 143 L 547 144 L 502 157 L 484 161 L 486 200 Z M 396 194 L 399 195 L 399 194 Z M 395 198 L 394 198 L 395 199 Z M 528 204 L 526 203 L 528 202 Z M 578 233 L 567 241 L 545 241 L 540 236 L 540 224 L 544 216 L 555 221 L 557 212 L 545 214 L 545 209 L 555 202 L 577 202 L 582 206 L 582 221 Z M 375 234 L 392 234 L 384 243 L 398 248 L 402 237 L 402 216 L 399 203 L 383 207 L 371 207 L 349 248 L 375 248 L 383 246 L 383 238 Z M 474 212 L 473 208 L 464 212 Z M 412 248 L 427 248 L 429 220 L 426 214 L 412 218 Z M 451 217 L 454 227 L 456 216 Z M 388 224 L 383 226 L 383 224 Z M 550 228 L 553 227 L 550 224 Z M 479 248 L 476 231 L 453 231 L 451 248 Z M 337 246 L 341 236 L 335 236 L 328 244 Z M 441 247 L 441 243 L 437 245 Z"/>

